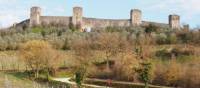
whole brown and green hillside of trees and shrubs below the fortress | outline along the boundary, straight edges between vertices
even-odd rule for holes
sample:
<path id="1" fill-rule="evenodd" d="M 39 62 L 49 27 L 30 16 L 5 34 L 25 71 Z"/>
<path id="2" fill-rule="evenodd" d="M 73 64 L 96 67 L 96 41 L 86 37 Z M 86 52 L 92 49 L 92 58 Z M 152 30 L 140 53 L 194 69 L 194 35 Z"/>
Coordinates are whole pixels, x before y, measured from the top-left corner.
<path id="1" fill-rule="evenodd" d="M 200 31 L 151 26 L 79 32 L 35 27 L 0 31 L 0 35 L 0 70 L 28 69 L 35 78 L 44 75 L 47 79 L 70 73 L 83 77 L 79 81 L 98 78 L 184 88 L 200 85 Z"/>

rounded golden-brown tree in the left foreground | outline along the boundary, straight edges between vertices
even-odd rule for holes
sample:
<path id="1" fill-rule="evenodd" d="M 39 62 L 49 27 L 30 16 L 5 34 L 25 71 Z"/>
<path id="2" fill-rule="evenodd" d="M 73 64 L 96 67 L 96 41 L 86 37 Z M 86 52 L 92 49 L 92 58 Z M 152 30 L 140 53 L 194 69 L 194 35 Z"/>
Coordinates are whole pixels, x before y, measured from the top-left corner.
<path id="1" fill-rule="evenodd" d="M 49 73 L 50 69 L 55 69 L 59 61 L 59 55 L 52 46 L 41 40 L 25 43 L 20 48 L 20 54 L 25 64 L 34 72 L 35 78 L 38 78 L 40 70 L 48 70 Z"/>

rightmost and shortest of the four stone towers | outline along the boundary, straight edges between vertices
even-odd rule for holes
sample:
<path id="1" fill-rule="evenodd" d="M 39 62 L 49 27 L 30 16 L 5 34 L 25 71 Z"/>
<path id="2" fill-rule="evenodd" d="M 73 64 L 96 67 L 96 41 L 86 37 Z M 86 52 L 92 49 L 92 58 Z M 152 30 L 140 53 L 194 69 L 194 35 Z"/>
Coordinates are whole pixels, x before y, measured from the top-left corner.
<path id="1" fill-rule="evenodd" d="M 169 26 L 172 29 L 180 29 L 180 16 L 169 15 Z"/>

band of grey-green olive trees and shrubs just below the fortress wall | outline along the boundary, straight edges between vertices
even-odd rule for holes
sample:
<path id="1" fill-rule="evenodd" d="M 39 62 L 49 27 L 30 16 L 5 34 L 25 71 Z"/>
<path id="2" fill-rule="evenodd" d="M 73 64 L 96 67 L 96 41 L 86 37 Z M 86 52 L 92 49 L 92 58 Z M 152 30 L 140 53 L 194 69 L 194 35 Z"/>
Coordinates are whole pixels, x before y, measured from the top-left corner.
<path id="1" fill-rule="evenodd" d="M 70 30 L 71 29 L 71 30 Z M 75 30 L 75 29 L 74 29 Z M 0 45 L 6 45 L 6 50 L 17 49 L 20 43 L 29 40 L 49 40 L 57 49 L 65 49 L 64 45 L 68 41 L 68 49 L 70 48 L 69 43 L 71 40 L 76 39 L 76 36 L 88 36 L 92 40 L 96 40 L 98 36 L 104 36 L 103 33 L 111 33 L 117 35 L 123 35 L 128 39 L 128 42 L 134 44 L 135 42 L 143 41 L 145 38 L 151 40 L 150 44 L 177 44 L 177 43 L 187 43 L 198 45 L 200 42 L 199 31 L 190 32 L 174 32 L 168 28 L 160 28 L 155 25 L 149 25 L 147 27 L 107 27 L 101 30 L 93 30 L 91 33 L 79 33 L 78 31 L 73 31 L 73 27 L 34 27 L 26 28 L 26 30 L 20 29 L 10 29 L 1 30 L 0 35 L 2 39 L 6 41 L 7 44 L 2 42 Z M 100 34 L 98 34 L 100 33 Z M 145 40 L 146 41 L 146 40 Z M 1 42 L 0 42 L 1 43 Z M 10 45 L 15 45 L 12 47 Z M 5 50 L 2 49 L 2 50 Z"/>

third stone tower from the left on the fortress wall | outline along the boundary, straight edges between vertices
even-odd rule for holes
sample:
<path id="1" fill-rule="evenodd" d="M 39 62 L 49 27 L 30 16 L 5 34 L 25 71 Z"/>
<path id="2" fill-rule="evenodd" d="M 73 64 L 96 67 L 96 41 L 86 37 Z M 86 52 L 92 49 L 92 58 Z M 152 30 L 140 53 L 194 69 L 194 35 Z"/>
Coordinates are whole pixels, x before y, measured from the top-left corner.
<path id="1" fill-rule="evenodd" d="M 139 9 L 131 10 L 131 25 L 132 26 L 140 26 L 142 23 L 142 11 Z"/>

